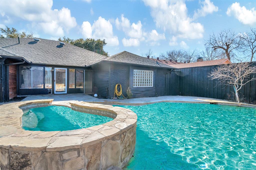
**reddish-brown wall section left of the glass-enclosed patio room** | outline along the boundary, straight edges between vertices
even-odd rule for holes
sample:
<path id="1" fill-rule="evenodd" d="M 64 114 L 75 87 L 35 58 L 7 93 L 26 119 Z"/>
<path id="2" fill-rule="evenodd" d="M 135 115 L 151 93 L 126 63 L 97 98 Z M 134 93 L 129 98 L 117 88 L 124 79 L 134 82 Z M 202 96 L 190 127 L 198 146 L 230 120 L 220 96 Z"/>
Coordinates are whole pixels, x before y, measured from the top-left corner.
<path id="1" fill-rule="evenodd" d="M 17 96 L 17 67 L 9 66 L 9 99 Z"/>

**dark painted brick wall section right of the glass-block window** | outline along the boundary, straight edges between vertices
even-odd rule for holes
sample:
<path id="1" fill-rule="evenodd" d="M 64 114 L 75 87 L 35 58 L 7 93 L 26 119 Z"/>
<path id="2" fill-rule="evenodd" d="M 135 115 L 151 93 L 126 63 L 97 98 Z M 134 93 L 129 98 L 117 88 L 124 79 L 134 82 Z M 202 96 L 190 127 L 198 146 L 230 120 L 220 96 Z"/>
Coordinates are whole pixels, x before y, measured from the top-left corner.
<path id="1" fill-rule="evenodd" d="M 168 69 L 156 69 L 156 96 L 165 95 L 165 79 Z"/>

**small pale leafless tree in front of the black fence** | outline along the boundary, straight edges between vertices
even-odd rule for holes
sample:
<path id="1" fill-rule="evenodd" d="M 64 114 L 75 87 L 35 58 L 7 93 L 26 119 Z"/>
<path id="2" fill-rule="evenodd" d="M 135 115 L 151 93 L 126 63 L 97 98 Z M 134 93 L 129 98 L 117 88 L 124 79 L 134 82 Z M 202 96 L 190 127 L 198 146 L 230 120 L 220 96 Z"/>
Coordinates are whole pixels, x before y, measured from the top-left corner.
<path id="1" fill-rule="evenodd" d="M 211 80 L 218 79 L 222 84 L 234 86 L 236 101 L 240 102 L 239 90 L 246 83 L 256 80 L 254 76 L 249 80 L 250 75 L 256 73 L 256 67 L 249 62 L 225 64 L 213 69 L 209 74 Z"/>

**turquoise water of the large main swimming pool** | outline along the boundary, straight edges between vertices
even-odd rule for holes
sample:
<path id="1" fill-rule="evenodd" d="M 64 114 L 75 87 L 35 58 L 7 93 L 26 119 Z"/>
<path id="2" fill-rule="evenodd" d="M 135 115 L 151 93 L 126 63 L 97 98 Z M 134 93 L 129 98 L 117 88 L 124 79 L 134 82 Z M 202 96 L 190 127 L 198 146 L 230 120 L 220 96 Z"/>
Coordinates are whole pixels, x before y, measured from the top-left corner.
<path id="1" fill-rule="evenodd" d="M 121 107 L 138 116 L 126 169 L 256 169 L 256 109 L 164 102 Z"/>

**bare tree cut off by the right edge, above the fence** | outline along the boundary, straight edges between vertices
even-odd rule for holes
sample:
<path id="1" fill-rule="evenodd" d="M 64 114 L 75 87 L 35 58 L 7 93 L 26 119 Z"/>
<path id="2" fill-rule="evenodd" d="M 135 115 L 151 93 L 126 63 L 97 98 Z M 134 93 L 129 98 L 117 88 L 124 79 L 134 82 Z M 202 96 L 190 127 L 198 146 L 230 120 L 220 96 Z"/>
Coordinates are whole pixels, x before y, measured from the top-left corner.
<path id="1" fill-rule="evenodd" d="M 256 29 L 251 28 L 251 32 L 241 34 L 240 36 L 243 40 L 240 49 L 244 54 L 250 57 L 250 61 L 252 62 L 256 52 Z"/>

